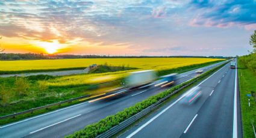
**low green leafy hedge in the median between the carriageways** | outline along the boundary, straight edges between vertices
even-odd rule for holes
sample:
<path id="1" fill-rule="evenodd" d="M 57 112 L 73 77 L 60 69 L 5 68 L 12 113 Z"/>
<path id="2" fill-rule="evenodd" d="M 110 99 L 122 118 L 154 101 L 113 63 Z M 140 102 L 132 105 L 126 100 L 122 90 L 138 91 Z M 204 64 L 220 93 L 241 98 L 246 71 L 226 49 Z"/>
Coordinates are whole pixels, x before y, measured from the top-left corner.
<path id="1" fill-rule="evenodd" d="M 156 103 L 157 101 L 161 100 L 162 98 L 166 97 L 172 92 L 182 88 L 183 86 L 193 82 L 196 79 L 213 73 L 213 71 L 216 71 L 220 67 L 223 67 L 223 65 L 225 64 L 222 64 L 219 67 L 216 67 L 212 70 L 206 71 L 205 73 L 202 73 L 200 76 L 194 77 L 193 79 L 190 79 L 187 82 L 173 86 L 172 88 L 167 89 L 166 91 L 160 92 L 159 94 L 146 98 L 145 100 L 136 103 L 134 106 L 128 107 L 120 112 L 117 112 L 115 115 L 107 116 L 106 118 L 101 119 L 100 121 L 94 124 L 87 125 L 82 130 L 76 131 L 75 133 L 70 134 L 69 136 L 66 137 L 96 137 L 99 134 L 102 134 L 105 131 L 110 130 L 110 128 L 118 125 L 120 122 L 125 121 L 125 119 L 128 119 L 133 115 L 136 115 L 136 113 L 141 112 L 143 109 L 146 109 L 146 107 L 151 106 L 152 104 Z"/>

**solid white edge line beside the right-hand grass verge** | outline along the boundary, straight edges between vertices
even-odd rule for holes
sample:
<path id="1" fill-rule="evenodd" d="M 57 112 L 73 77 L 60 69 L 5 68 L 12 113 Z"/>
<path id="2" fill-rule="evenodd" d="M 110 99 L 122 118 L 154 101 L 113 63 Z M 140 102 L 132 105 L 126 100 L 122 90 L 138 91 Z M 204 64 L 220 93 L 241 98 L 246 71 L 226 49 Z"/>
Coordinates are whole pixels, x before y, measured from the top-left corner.
<path id="1" fill-rule="evenodd" d="M 233 112 L 233 138 L 237 138 L 237 64 L 236 64 L 236 77 L 234 89 L 234 112 Z"/>

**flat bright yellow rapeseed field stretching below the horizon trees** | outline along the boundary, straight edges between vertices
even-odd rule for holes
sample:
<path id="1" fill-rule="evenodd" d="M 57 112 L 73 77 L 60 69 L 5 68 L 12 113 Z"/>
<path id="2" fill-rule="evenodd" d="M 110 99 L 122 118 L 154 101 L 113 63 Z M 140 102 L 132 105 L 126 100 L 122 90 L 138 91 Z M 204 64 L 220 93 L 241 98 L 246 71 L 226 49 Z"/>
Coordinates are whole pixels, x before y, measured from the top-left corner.
<path id="1" fill-rule="evenodd" d="M 60 68 L 87 67 L 105 64 L 140 69 L 165 70 L 192 64 L 217 61 L 211 58 L 95 58 L 95 59 L 46 59 L 26 61 L 0 61 L 0 71 L 55 70 Z"/>

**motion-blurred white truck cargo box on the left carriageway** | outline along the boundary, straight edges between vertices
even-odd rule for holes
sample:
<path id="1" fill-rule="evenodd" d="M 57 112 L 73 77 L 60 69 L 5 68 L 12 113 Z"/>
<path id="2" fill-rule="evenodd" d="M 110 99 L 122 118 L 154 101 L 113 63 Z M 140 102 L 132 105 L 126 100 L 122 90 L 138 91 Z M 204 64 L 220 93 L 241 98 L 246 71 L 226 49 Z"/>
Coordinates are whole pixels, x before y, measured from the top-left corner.
<path id="1" fill-rule="evenodd" d="M 157 75 L 154 70 L 135 71 L 126 77 L 125 85 L 128 88 L 137 88 L 153 82 L 156 78 Z"/>

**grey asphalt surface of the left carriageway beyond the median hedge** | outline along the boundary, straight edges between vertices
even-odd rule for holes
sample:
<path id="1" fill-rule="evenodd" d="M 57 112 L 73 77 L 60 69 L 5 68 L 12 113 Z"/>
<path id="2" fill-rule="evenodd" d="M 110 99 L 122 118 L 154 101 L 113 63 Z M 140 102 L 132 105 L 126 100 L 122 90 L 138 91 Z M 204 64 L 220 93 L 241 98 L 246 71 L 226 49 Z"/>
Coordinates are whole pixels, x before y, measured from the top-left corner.
<path id="1" fill-rule="evenodd" d="M 201 70 L 209 70 L 218 64 L 210 65 L 208 67 L 201 68 Z M 195 77 L 195 70 L 188 71 L 180 74 L 178 83 Z M 135 103 L 148 98 L 151 95 L 155 95 L 167 88 L 154 88 L 145 91 L 145 89 L 134 90 L 122 97 L 114 97 L 105 100 L 95 101 L 93 103 L 80 103 L 74 106 L 59 109 L 54 112 L 45 113 L 34 118 L 28 118 L 23 121 L 15 122 L 13 125 L 8 124 L 0 128 L 0 137 L 63 137 L 66 134 L 71 134 L 76 130 L 84 128 L 88 124 L 99 121 L 99 119 L 105 118 L 105 116 L 113 115 L 120 110 L 130 107 Z M 145 91 L 145 92 L 142 92 Z M 139 92 L 142 92 L 138 94 Z M 137 94 L 137 95 L 134 95 Z M 133 96 L 132 96 L 133 95 Z M 76 118 L 68 121 L 61 122 L 72 116 L 80 115 Z M 60 124 L 56 124 L 61 122 Z M 40 128 L 47 127 L 49 125 L 56 124 L 52 127 L 45 128 L 36 133 L 30 134 L 33 131 L 39 130 Z"/>

